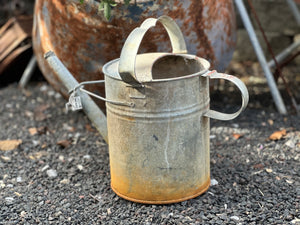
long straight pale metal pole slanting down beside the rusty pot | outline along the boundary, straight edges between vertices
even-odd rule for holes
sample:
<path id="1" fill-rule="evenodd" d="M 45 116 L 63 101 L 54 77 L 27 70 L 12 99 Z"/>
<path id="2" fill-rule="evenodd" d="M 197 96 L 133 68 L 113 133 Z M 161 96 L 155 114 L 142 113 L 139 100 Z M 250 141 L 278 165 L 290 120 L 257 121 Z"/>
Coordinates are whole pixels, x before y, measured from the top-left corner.
<path id="1" fill-rule="evenodd" d="M 280 92 L 276 86 L 276 82 L 274 80 L 273 74 L 271 73 L 270 68 L 268 67 L 267 60 L 264 56 L 264 52 L 259 44 L 259 41 L 257 39 L 257 36 L 255 34 L 254 28 L 252 26 L 252 23 L 250 21 L 248 12 L 245 8 L 245 5 L 243 3 L 243 0 L 235 0 L 235 4 L 237 6 L 237 9 L 241 15 L 242 21 L 244 23 L 244 26 L 248 32 L 250 41 L 252 43 L 252 46 L 254 48 L 254 51 L 256 53 L 256 56 L 260 62 L 260 65 L 265 73 L 273 100 L 275 102 L 276 108 L 281 114 L 287 114 L 286 107 L 284 105 L 284 102 L 282 100 L 282 97 L 280 95 Z"/>

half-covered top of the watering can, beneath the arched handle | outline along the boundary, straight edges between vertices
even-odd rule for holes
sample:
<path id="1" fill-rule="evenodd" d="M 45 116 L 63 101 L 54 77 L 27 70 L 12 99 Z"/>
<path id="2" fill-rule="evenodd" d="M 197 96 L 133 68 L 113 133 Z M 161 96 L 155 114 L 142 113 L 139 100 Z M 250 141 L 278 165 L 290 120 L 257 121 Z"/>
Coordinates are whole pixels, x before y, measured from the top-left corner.
<path id="1" fill-rule="evenodd" d="M 106 76 L 122 80 L 119 74 L 120 59 L 113 60 L 103 66 Z M 207 72 L 210 63 L 190 54 L 144 53 L 136 56 L 134 66 L 138 82 L 160 82 L 199 76 Z"/>

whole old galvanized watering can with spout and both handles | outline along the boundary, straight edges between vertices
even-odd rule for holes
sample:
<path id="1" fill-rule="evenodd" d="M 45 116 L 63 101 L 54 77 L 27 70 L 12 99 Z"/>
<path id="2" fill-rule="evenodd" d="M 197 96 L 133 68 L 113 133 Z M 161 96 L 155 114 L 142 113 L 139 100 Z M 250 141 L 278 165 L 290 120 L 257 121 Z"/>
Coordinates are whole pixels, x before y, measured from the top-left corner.
<path id="1" fill-rule="evenodd" d="M 173 53 L 137 54 L 157 21 L 167 30 Z M 170 17 L 145 20 L 127 38 L 120 59 L 104 65 L 106 99 L 83 89 L 91 82 L 78 84 L 54 53 L 46 59 L 72 91 L 71 107 L 82 104 L 106 141 L 107 124 L 111 187 L 119 196 L 166 204 L 208 189 L 209 119 L 237 117 L 248 103 L 248 91 L 238 78 L 209 71 L 207 60 L 187 54 L 183 35 Z M 234 83 L 242 94 L 240 110 L 233 114 L 210 110 L 209 79 Z M 106 101 L 107 123 L 84 92 Z"/>

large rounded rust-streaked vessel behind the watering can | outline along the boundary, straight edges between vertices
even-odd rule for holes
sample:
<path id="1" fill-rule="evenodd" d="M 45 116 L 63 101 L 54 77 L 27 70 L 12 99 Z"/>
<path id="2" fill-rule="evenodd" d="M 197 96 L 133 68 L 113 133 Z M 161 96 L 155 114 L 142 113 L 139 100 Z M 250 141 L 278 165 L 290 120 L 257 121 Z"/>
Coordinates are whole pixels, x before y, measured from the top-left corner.
<path id="1" fill-rule="evenodd" d="M 120 1 L 119 1 L 120 2 Z M 123 1 L 121 1 L 123 2 Z M 223 70 L 231 60 L 235 41 L 235 14 L 231 0 L 136 0 L 118 4 L 110 21 L 98 12 L 98 1 L 36 0 L 33 48 L 40 69 L 49 83 L 65 93 L 58 77 L 46 65 L 43 55 L 52 50 L 79 81 L 103 78 L 102 65 L 118 58 L 129 33 L 145 18 L 168 15 L 176 20 L 191 54 L 210 60 Z M 150 31 L 141 52 L 170 51 L 162 27 Z M 150 40 L 155 40 L 150 42 Z M 104 93 L 99 85 L 91 91 Z M 100 104 L 102 109 L 104 104 Z"/>

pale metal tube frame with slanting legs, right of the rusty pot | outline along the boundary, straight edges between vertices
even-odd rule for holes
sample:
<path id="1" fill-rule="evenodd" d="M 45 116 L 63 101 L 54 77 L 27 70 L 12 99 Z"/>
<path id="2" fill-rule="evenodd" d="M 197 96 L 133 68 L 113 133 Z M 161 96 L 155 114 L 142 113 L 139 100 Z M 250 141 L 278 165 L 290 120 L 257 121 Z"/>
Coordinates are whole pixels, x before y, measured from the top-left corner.
<path id="1" fill-rule="evenodd" d="M 286 1 L 288 3 L 289 7 L 292 10 L 292 13 L 293 13 L 293 15 L 294 15 L 294 17 L 297 21 L 297 24 L 300 25 L 300 13 L 299 13 L 299 10 L 297 8 L 296 3 L 294 2 L 294 0 L 286 0 Z M 256 56 L 258 58 L 258 61 L 259 61 L 260 65 L 261 65 L 261 67 L 262 67 L 262 69 L 265 73 L 265 77 L 267 79 L 267 82 L 268 82 L 268 85 L 269 85 L 269 88 L 270 88 L 270 91 L 271 91 L 271 95 L 272 95 L 273 100 L 275 102 L 276 108 L 277 108 L 279 113 L 287 114 L 285 104 L 282 100 L 282 97 L 281 97 L 280 92 L 277 88 L 274 76 L 271 72 L 271 68 L 275 66 L 275 62 L 274 62 L 274 60 L 271 60 L 271 61 L 267 62 L 266 57 L 264 55 L 264 52 L 263 52 L 263 50 L 262 50 L 262 48 L 259 44 L 259 41 L 257 39 L 255 30 L 252 26 L 249 14 L 248 14 L 248 12 L 245 8 L 243 0 L 235 0 L 235 4 L 236 4 L 237 9 L 240 13 L 243 24 L 244 24 L 244 26 L 245 26 L 245 28 L 248 32 L 251 44 L 254 48 L 254 51 L 255 51 Z M 300 41 L 291 44 L 290 46 L 288 46 L 286 49 L 284 49 L 280 54 L 278 54 L 276 56 L 276 60 L 278 62 L 283 61 L 299 45 L 300 45 Z"/>

